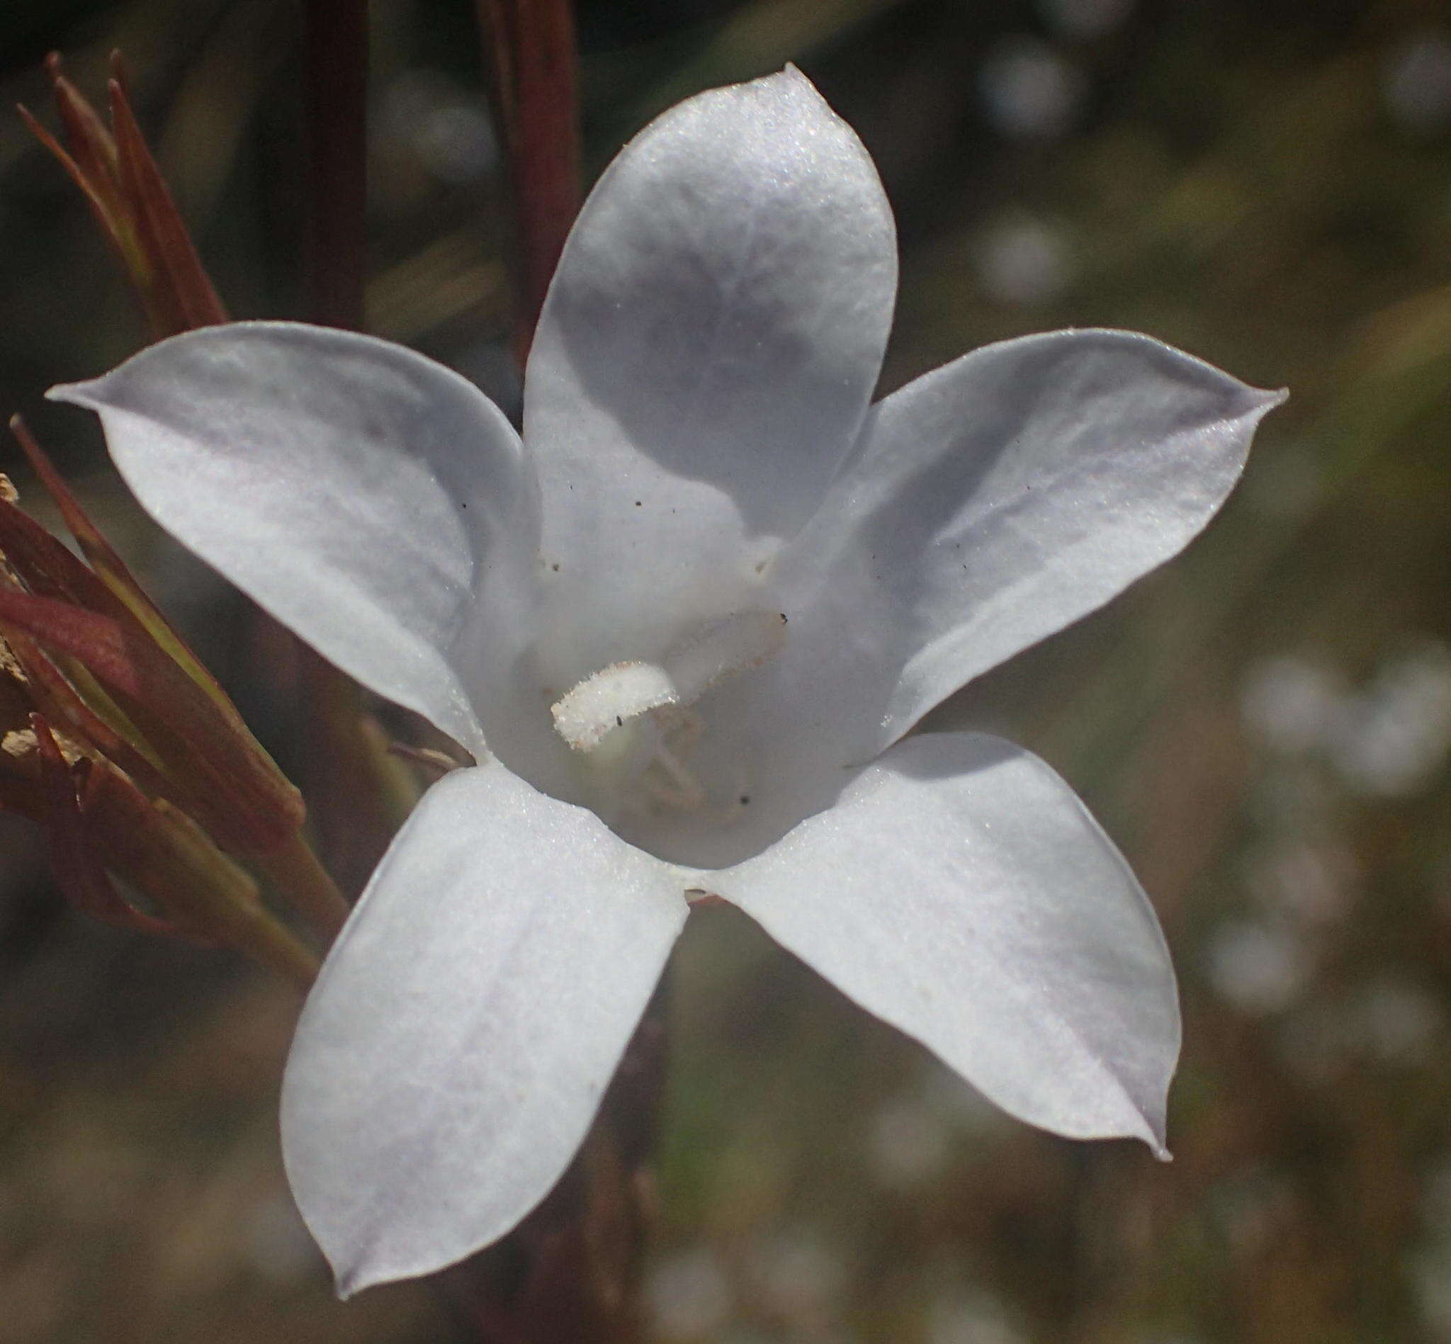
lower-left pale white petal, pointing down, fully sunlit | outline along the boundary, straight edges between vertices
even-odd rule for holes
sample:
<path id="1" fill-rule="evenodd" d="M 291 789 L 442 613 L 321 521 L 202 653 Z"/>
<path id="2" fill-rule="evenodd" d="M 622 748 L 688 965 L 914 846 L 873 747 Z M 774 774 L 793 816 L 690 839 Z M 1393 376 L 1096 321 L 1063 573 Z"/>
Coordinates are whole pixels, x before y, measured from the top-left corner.
<path id="1" fill-rule="evenodd" d="M 428 791 L 324 965 L 283 1084 L 287 1179 L 341 1292 L 453 1264 L 548 1193 L 683 885 L 498 763 Z"/>

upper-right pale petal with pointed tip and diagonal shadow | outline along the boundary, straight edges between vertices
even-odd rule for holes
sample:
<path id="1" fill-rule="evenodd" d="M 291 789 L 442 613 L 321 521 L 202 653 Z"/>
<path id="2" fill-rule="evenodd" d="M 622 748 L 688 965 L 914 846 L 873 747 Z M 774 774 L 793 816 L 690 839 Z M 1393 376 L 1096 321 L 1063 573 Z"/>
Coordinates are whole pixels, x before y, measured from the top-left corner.
<path id="1" fill-rule="evenodd" d="M 775 714 L 843 761 L 895 742 L 1177 554 L 1280 401 L 1120 331 L 987 345 L 907 385 L 782 557 L 795 665 Z M 826 668 L 849 669 L 844 714 L 813 685 Z"/>

